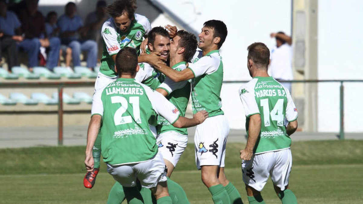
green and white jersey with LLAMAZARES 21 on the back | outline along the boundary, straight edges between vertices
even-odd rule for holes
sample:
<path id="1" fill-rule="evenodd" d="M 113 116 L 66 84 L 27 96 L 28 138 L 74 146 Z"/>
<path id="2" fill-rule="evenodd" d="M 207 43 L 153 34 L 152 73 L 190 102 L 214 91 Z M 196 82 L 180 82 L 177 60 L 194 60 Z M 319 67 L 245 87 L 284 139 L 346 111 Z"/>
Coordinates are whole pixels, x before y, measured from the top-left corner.
<path id="1" fill-rule="evenodd" d="M 103 160 L 112 165 L 151 159 L 158 152 L 150 130 L 150 125 L 156 125 L 156 115 L 162 115 L 171 124 L 180 116 L 179 110 L 162 94 L 133 78 L 110 83 L 93 103 L 98 107 L 94 114 L 102 116 Z"/>

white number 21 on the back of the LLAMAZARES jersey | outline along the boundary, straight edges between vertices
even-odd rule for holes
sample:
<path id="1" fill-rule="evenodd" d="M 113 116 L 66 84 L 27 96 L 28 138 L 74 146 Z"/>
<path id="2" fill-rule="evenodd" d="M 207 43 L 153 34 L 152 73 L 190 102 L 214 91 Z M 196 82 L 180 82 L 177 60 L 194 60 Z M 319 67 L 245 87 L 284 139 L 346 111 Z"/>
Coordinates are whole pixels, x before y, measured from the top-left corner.
<path id="1" fill-rule="evenodd" d="M 129 98 L 129 103 L 127 103 L 127 99 L 122 96 L 113 96 L 111 97 L 111 103 L 121 103 L 121 107 L 117 109 L 114 115 L 115 125 L 123 125 L 127 123 L 132 123 L 131 115 L 122 116 L 129 106 L 129 103 L 132 104 L 132 114 L 134 115 L 134 120 L 136 123 L 141 123 L 140 118 L 140 102 L 138 96 L 131 96 Z"/>

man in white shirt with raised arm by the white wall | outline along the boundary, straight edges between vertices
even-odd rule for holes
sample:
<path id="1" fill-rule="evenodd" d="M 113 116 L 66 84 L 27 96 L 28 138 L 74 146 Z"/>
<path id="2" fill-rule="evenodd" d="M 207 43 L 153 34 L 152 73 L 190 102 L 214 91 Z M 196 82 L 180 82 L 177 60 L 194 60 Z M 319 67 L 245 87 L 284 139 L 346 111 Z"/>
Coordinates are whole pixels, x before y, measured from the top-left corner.
<path id="1" fill-rule="evenodd" d="M 291 37 L 287 36 L 284 32 L 271 33 L 270 37 L 276 39 L 276 47 L 271 49 L 269 75 L 277 81 L 293 80 L 293 49 L 291 46 Z M 281 84 L 289 89 L 291 93 L 290 82 L 282 82 Z"/>

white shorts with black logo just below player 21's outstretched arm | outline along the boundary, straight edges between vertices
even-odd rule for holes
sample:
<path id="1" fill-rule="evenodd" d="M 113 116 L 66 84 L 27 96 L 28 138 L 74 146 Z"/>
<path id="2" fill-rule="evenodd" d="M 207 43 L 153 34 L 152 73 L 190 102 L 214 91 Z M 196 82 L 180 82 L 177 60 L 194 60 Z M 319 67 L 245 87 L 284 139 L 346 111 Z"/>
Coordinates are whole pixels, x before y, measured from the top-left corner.
<path id="1" fill-rule="evenodd" d="M 183 135 L 175 131 L 163 132 L 156 138 L 159 152 L 161 152 L 163 158 L 171 162 L 174 167 L 176 167 L 181 154 L 183 154 L 187 147 L 187 143 L 188 135 Z"/>

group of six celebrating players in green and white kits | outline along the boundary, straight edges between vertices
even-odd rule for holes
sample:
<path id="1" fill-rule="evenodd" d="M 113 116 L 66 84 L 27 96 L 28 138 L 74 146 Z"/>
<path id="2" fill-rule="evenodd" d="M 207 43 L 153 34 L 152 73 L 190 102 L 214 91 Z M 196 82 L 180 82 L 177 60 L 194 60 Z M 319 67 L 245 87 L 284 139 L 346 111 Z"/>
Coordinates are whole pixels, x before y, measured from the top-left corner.
<path id="1" fill-rule="evenodd" d="M 187 147 L 187 127 L 196 126 L 196 166 L 213 202 L 241 204 L 224 172 L 229 125 L 221 109 L 224 67 L 219 49 L 227 26 L 206 21 L 197 41 L 175 26 L 151 28 L 136 8 L 134 0 L 117 0 L 107 7 L 111 17 L 101 31 L 104 46 L 83 184 L 94 186 L 102 152 L 116 181 L 108 204 L 125 199 L 130 204 L 188 204 L 183 188 L 170 176 Z M 290 135 L 297 129 L 297 109 L 289 90 L 269 77 L 269 57 L 265 44 L 248 46 L 247 68 L 253 79 L 238 91 L 248 134 L 240 151 L 242 178 L 249 203 L 265 203 L 261 191 L 270 176 L 281 202 L 294 204 Z M 194 115 L 186 118 L 190 96 Z"/>

